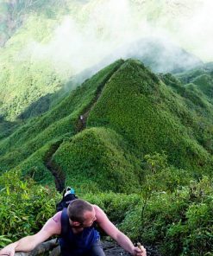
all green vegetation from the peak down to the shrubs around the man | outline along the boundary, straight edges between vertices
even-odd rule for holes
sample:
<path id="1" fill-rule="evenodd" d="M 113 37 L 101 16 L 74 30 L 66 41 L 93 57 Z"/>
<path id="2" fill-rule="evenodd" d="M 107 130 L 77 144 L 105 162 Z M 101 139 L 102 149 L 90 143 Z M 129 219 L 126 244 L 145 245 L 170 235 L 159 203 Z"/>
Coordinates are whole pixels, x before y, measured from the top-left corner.
<path id="1" fill-rule="evenodd" d="M 208 68 L 174 77 L 153 74 L 140 61 L 116 61 L 5 133 L 0 245 L 34 233 L 55 211 L 60 195 L 51 163 L 58 179 L 65 176 L 132 240 L 153 244 L 162 255 L 211 255 Z"/>

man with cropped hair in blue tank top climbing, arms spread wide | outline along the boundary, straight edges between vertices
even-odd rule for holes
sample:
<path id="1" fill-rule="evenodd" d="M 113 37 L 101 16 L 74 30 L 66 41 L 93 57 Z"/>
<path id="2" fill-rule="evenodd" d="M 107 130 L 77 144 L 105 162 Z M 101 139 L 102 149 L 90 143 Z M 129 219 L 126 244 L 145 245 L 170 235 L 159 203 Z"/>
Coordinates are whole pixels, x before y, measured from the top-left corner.
<path id="1" fill-rule="evenodd" d="M 94 222 L 128 253 L 147 256 L 146 249 L 143 246 L 141 248 L 134 246 L 131 240 L 108 219 L 101 208 L 80 199 L 72 201 L 68 208 L 54 214 L 37 234 L 26 236 L 5 246 L 0 251 L 0 256 L 13 256 L 15 252 L 30 252 L 35 246 L 55 234 L 60 235 L 62 256 L 104 256 Z"/>

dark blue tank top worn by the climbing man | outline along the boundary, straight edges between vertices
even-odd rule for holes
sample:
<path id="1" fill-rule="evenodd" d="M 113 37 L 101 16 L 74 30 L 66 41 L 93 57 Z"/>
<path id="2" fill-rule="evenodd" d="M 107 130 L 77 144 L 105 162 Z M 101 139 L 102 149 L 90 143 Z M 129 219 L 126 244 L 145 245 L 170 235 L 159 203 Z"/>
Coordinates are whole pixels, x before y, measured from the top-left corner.
<path id="1" fill-rule="evenodd" d="M 92 225 L 85 227 L 79 234 L 73 234 L 70 226 L 67 208 L 64 208 L 60 217 L 61 234 L 60 234 L 60 250 L 63 256 L 83 255 L 90 250 L 93 243 L 100 239 L 100 235 Z"/>

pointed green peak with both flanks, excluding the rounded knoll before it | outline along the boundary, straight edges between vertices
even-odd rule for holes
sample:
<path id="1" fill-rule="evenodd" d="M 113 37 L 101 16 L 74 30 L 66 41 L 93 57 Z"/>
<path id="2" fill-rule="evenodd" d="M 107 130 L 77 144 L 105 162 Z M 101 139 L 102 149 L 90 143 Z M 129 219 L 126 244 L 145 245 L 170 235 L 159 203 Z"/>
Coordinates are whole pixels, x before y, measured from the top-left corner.
<path id="1" fill-rule="evenodd" d="M 191 170 L 198 176 L 199 173 L 208 173 L 212 164 L 211 141 L 207 146 L 204 139 L 211 138 L 212 125 L 208 118 L 200 117 L 200 110 L 197 110 L 197 105 L 193 105 L 190 97 L 184 98 L 185 95 L 188 96 L 187 93 L 177 90 L 174 93 L 171 87 L 163 83 L 164 77 L 160 80 L 139 61 L 116 61 L 90 80 L 85 80 L 82 86 L 52 110 L 31 119 L 9 138 L 2 139 L 1 170 L 9 170 L 17 165 L 22 169 L 24 161 L 24 173 L 32 173 L 30 169 L 36 166 L 35 163 L 43 161 L 45 151 L 41 153 L 41 148 L 48 150 L 47 144 L 51 147 L 51 144 L 63 139 L 66 143 L 66 138 L 85 128 L 106 127 L 122 136 L 128 144 L 128 151 L 138 158 L 136 162 L 140 162 L 141 156 L 148 153 L 165 151 L 169 162 L 175 166 Z M 172 75 L 170 79 L 173 79 Z M 193 93 L 180 82 L 176 82 L 176 85 Z M 197 95 L 197 99 L 199 97 Z M 187 102 L 191 105 L 187 105 Z M 207 113 L 207 117 L 212 116 L 210 102 L 205 100 L 204 106 L 200 108 Z M 79 120 L 82 114 L 85 114 L 85 125 Z M 204 122 L 203 130 L 197 125 L 197 118 Z M 206 126 L 209 129 L 204 133 Z M 203 141 L 202 133 L 203 137 L 207 137 Z M 37 160 L 39 162 L 34 162 L 31 154 L 35 158 L 44 155 Z M 30 167 L 30 164 L 33 166 Z M 42 173 L 43 170 L 46 170 L 44 165 L 37 172 Z M 64 166 L 62 170 L 68 171 L 69 168 Z"/>

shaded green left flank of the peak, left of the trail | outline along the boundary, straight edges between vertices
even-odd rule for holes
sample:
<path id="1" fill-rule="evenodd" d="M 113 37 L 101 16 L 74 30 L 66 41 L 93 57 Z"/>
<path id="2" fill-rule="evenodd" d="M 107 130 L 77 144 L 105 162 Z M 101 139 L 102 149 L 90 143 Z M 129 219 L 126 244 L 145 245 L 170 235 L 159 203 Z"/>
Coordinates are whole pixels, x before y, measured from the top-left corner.
<path id="1" fill-rule="evenodd" d="M 116 61 L 104 68 L 45 115 L 30 120 L 9 138 L 3 139 L 0 143 L 1 170 L 9 170 L 34 154 L 22 163 L 23 170 L 31 174 L 33 172 L 36 180 L 47 179 L 47 168 L 43 162 L 51 144 L 82 129 L 79 116 L 87 112 L 105 82 L 122 62 Z M 34 171 L 34 166 L 37 171 Z"/>

